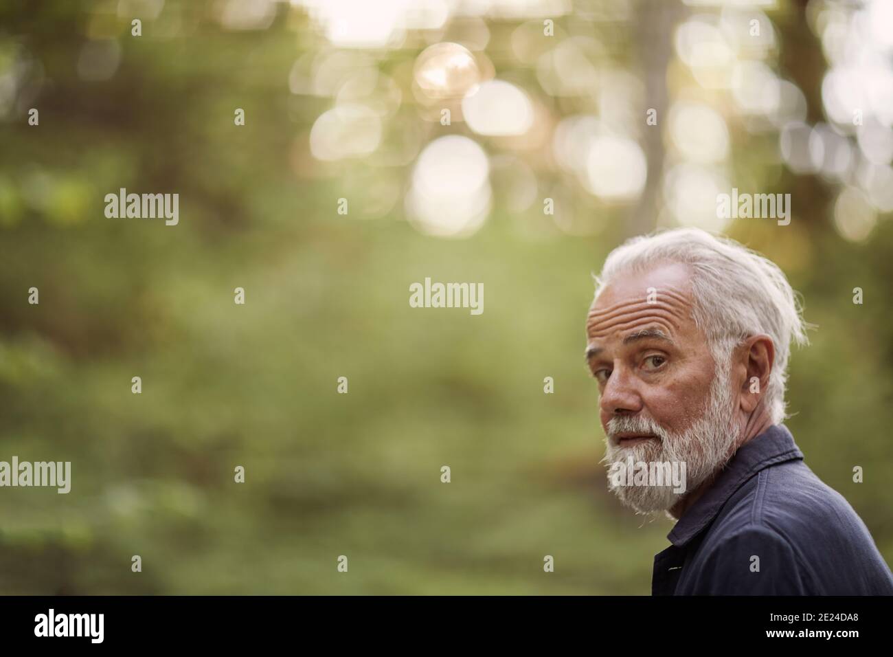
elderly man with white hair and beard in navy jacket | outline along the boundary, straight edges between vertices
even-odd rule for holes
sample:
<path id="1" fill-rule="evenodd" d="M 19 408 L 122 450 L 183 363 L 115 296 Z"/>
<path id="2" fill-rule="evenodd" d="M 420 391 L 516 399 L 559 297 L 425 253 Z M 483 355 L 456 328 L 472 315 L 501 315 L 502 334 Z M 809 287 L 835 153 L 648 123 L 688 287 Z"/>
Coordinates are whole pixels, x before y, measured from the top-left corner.
<path id="1" fill-rule="evenodd" d="M 609 486 L 678 520 L 652 594 L 893 594 L 862 519 L 781 424 L 805 328 L 778 266 L 733 240 L 679 229 L 607 257 L 586 357 Z"/>

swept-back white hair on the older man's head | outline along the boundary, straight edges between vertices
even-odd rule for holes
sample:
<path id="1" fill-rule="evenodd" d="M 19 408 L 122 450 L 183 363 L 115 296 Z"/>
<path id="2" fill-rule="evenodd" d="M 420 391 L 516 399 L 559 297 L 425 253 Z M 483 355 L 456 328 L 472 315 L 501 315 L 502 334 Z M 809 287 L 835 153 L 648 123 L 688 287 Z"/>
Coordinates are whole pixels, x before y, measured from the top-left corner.
<path id="1" fill-rule="evenodd" d="M 772 338 L 775 360 L 763 391 L 773 424 L 786 417 L 790 343 L 807 344 L 801 295 L 771 260 L 735 240 L 699 228 L 676 228 L 642 235 L 613 249 L 596 278 L 596 299 L 616 276 L 644 271 L 660 261 L 689 265 L 691 318 L 705 333 L 717 364 L 724 363 L 741 341 L 765 333 Z"/>

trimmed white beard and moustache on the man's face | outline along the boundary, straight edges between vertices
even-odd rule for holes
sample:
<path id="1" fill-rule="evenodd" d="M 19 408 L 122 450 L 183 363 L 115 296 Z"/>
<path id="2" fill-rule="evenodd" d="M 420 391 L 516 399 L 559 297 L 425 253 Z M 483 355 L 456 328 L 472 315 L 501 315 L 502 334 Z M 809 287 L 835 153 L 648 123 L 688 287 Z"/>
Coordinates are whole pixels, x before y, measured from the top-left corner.
<path id="1" fill-rule="evenodd" d="M 650 417 L 617 416 L 608 421 L 606 453 L 602 462 L 609 466 L 608 489 L 620 498 L 624 506 L 643 514 L 670 510 L 729 462 L 741 428 L 734 422 L 729 359 L 721 358 L 721 362 L 725 365 L 716 367 L 705 408 L 699 417 L 693 418 L 686 431 L 667 431 Z M 639 442 L 629 447 L 613 445 L 610 436 L 622 433 L 654 434 L 660 438 L 660 442 Z M 612 466 L 621 462 L 625 467 L 630 457 L 633 463 L 685 463 L 685 491 L 674 492 L 672 484 L 631 485 L 631 473 L 625 485 L 618 484 L 610 476 Z"/>

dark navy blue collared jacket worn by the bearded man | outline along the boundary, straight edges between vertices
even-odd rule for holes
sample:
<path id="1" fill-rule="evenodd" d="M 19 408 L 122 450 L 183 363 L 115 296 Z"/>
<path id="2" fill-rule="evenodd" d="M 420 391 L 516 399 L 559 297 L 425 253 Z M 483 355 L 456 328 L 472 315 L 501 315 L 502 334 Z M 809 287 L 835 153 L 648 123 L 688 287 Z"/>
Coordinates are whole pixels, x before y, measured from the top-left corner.
<path id="1" fill-rule="evenodd" d="M 862 518 L 806 466 L 785 425 L 745 443 L 667 538 L 654 595 L 893 594 Z"/>

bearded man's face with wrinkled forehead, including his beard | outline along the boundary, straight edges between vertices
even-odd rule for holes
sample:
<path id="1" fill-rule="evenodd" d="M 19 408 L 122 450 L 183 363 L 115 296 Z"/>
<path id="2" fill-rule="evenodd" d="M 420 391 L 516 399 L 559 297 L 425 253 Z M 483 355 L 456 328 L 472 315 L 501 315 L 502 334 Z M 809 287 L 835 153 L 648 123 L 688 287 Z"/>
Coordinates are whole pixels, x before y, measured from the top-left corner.
<path id="1" fill-rule="evenodd" d="M 716 375 L 705 334 L 691 318 L 689 277 L 678 263 L 622 275 L 587 320 L 605 459 L 684 462 L 686 492 L 724 465 L 738 437 L 728 364 Z M 640 512 L 667 510 L 680 499 L 669 485 L 611 487 Z"/>

